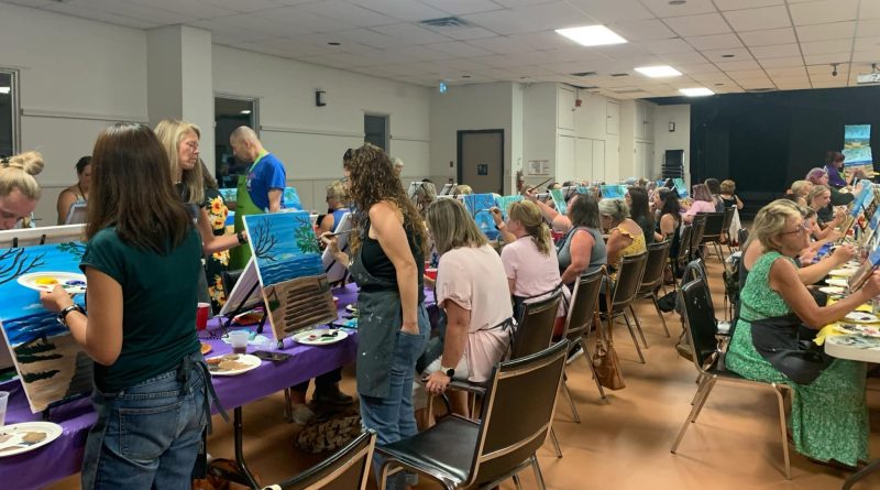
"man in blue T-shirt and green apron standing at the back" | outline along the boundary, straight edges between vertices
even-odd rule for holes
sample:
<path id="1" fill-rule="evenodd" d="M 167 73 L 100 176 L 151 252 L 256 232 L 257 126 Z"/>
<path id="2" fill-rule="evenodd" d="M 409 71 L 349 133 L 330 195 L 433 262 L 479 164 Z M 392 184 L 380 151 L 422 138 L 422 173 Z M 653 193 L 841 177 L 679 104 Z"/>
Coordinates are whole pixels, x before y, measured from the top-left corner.
<path id="1" fill-rule="evenodd" d="M 235 232 L 244 231 L 244 217 L 284 209 L 287 173 L 277 156 L 266 151 L 253 129 L 241 126 L 229 137 L 232 154 L 250 163 L 245 175 L 239 175 L 235 203 Z M 250 247 L 231 250 L 230 270 L 244 269 L 251 258 Z"/>

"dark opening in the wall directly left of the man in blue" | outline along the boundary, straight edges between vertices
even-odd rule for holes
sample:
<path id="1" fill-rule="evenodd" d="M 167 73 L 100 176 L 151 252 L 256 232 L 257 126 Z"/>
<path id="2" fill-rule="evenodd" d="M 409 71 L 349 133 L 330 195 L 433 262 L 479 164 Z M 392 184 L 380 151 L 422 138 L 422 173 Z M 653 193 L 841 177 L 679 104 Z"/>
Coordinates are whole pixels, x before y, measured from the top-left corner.
<path id="1" fill-rule="evenodd" d="M 249 164 L 232 155 L 229 135 L 240 126 L 256 129 L 256 108 L 255 99 L 229 96 L 213 98 L 215 175 L 220 188 L 237 187 L 239 175 L 248 172 Z"/>

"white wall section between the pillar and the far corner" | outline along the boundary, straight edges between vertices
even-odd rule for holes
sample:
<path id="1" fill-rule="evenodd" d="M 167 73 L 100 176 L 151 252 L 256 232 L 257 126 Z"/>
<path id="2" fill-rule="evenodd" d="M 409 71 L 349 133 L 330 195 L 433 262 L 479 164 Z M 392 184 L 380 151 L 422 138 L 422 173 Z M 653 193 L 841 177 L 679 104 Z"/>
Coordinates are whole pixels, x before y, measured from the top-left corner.
<path id="1" fill-rule="evenodd" d="M 315 90 L 327 92 L 316 107 Z M 213 46 L 215 94 L 258 98 L 260 137 L 285 164 L 304 206 L 321 210 L 342 154 L 363 144 L 364 113 L 389 116 L 388 152 L 404 181 L 429 175 L 429 89 L 224 46 Z"/>

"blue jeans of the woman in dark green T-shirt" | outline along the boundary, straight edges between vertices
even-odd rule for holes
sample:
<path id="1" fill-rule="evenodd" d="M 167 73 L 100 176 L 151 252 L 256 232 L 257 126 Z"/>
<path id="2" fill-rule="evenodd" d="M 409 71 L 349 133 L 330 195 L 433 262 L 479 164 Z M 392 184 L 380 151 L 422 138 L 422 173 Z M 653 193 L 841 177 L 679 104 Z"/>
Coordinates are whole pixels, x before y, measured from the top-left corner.
<path id="1" fill-rule="evenodd" d="M 196 352 L 180 368 L 118 393 L 95 389 L 98 421 L 86 440 L 84 490 L 190 488 L 210 416 L 204 362 Z"/>

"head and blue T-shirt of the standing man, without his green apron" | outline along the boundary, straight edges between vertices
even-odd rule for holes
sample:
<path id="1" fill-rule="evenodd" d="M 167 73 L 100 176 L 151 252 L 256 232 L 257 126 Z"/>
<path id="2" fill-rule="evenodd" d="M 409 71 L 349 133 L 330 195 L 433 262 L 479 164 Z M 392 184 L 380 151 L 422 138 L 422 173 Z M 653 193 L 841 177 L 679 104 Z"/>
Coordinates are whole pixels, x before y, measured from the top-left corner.
<path id="1" fill-rule="evenodd" d="M 282 161 L 267 152 L 254 130 L 246 126 L 233 131 L 229 143 L 237 159 L 251 164 L 246 176 L 248 194 L 254 206 L 264 213 L 283 209 L 287 174 Z"/>

